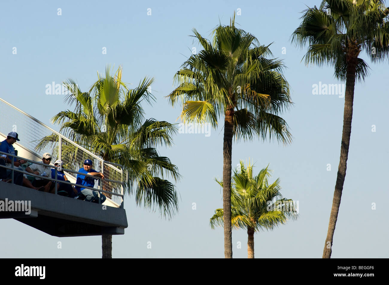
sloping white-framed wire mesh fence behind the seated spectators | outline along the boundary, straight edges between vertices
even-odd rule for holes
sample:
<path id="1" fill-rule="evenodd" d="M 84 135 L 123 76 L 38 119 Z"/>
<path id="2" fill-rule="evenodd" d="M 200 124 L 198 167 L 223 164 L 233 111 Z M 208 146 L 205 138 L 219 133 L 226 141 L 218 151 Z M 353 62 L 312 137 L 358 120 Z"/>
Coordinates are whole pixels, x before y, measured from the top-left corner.
<path id="1" fill-rule="evenodd" d="M 60 159 L 65 169 L 78 171 L 86 159 L 91 159 L 92 168 L 102 172 L 107 178 L 101 181 L 100 189 L 112 192 L 112 194 L 121 194 L 120 196 L 107 194 L 107 198 L 118 205 L 123 205 L 123 182 L 126 177 L 124 177 L 121 165 L 104 161 L 101 157 L 0 98 L 0 133 L 6 136 L 11 131 L 18 133 L 20 139 L 18 143 L 25 149 L 40 157 L 45 152 L 49 152 L 53 157 L 52 162 Z M 43 138 L 46 138 L 45 143 L 42 143 Z M 75 175 L 70 175 L 76 178 Z"/>

